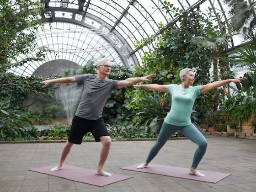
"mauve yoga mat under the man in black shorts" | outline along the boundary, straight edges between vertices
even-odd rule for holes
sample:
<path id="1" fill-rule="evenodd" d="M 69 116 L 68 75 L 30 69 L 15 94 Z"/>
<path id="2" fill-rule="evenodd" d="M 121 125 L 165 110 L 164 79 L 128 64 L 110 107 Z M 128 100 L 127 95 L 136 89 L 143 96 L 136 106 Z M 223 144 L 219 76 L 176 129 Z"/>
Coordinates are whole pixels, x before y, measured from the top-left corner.
<path id="1" fill-rule="evenodd" d="M 96 175 L 95 170 L 85 169 L 81 167 L 75 167 L 70 165 L 63 165 L 63 168 L 59 171 L 51 172 L 54 165 L 29 169 L 29 171 L 35 171 L 38 173 L 48 174 L 50 176 L 58 176 L 71 181 L 82 182 L 95 186 L 106 186 L 111 183 L 123 181 L 133 176 L 125 176 L 120 174 L 111 173 L 112 176 L 99 176 Z"/>

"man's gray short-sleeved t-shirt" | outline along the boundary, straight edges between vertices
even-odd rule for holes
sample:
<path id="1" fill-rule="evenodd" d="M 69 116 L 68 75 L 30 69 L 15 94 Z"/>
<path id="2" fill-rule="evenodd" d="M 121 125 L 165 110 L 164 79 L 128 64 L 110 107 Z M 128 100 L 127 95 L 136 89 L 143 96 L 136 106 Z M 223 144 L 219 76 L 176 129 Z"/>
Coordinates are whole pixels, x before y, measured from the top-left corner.
<path id="1" fill-rule="evenodd" d="M 88 120 L 101 117 L 103 107 L 113 90 L 117 90 L 119 80 L 98 80 L 97 74 L 75 76 L 77 85 L 84 85 L 82 98 L 75 115 Z"/>

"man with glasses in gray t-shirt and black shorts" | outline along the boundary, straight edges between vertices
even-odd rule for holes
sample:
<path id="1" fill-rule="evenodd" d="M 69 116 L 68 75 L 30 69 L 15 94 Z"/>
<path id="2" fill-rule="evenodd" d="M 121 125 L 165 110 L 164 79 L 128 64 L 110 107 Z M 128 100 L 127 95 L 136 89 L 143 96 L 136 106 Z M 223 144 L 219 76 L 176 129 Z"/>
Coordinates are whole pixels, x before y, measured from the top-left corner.
<path id="1" fill-rule="evenodd" d="M 100 160 L 97 166 L 96 174 L 101 176 L 111 176 L 110 173 L 103 171 L 103 166 L 107 160 L 111 146 L 111 138 L 102 119 L 103 107 L 113 90 L 135 85 L 141 81 L 146 81 L 155 76 L 155 74 L 145 77 L 134 77 L 126 80 L 110 80 L 107 75 L 111 72 L 112 64 L 108 59 L 100 59 L 97 63 L 97 74 L 77 75 L 73 77 L 64 77 L 53 80 L 45 80 L 41 83 L 46 87 L 53 83 L 77 83 L 84 85 L 80 104 L 73 118 L 68 141 L 66 142 L 59 163 L 51 171 L 59 171 L 63 168 L 64 160 L 73 144 L 81 144 L 83 136 L 91 132 L 96 142 L 101 141 L 102 148 Z"/>

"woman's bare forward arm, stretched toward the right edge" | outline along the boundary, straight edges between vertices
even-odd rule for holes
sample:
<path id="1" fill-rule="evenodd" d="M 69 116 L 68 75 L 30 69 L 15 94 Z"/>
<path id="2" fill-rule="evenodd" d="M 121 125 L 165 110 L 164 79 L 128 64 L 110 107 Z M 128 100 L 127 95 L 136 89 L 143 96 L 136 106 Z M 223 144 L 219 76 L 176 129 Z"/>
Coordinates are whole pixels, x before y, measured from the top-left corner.
<path id="1" fill-rule="evenodd" d="M 220 86 L 223 86 L 223 85 L 227 85 L 231 82 L 233 83 L 238 83 L 240 82 L 241 80 L 245 80 L 246 77 L 241 77 L 241 78 L 237 78 L 237 79 L 229 79 L 229 80 L 218 80 L 218 81 L 214 81 L 213 83 L 209 83 L 207 85 L 202 85 L 201 86 L 201 91 L 200 91 L 200 94 L 202 93 L 206 93 L 208 91 L 211 91 L 213 89 L 216 89 Z"/>

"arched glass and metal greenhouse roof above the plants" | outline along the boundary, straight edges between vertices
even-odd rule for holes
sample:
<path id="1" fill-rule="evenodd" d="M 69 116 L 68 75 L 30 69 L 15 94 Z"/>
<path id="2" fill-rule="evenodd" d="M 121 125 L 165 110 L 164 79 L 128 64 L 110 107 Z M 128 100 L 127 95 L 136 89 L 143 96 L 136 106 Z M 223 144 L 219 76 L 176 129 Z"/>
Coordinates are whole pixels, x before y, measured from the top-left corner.
<path id="1" fill-rule="evenodd" d="M 37 32 L 37 49 L 46 53 L 43 61 L 31 61 L 10 69 L 17 75 L 39 75 L 37 68 L 46 64 L 54 69 L 77 68 L 88 61 L 108 58 L 112 64 L 133 68 L 141 66 L 144 52 L 152 44 L 135 48 L 137 40 L 157 36 L 171 25 L 179 27 L 179 20 L 197 7 L 203 11 L 211 7 L 217 24 L 229 27 L 224 6 L 220 0 L 172 0 L 183 10 L 173 16 L 164 8 L 164 0 L 42 0 L 45 12 L 43 30 Z M 165 27 L 160 28 L 162 22 Z M 191 22 L 193 30 L 193 24 Z M 231 37 L 230 47 L 235 46 Z M 20 56 L 22 59 L 22 56 Z M 62 62 L 65 61 L 62 65 Z M 53 70 L 51 68 L 51 70 Z M 42 68 L 43 69 L 43 68 Z M 49 69 L 49 67 L 44 67 Z M 59 71 L 58 71 L 59 72 Z M 52 71 L 54 73 L 54 71 Z M 57 71 L 55 71 L 57 73 Z M 45 76 L 45 74 L 42 76 Z"/>

